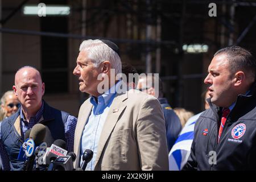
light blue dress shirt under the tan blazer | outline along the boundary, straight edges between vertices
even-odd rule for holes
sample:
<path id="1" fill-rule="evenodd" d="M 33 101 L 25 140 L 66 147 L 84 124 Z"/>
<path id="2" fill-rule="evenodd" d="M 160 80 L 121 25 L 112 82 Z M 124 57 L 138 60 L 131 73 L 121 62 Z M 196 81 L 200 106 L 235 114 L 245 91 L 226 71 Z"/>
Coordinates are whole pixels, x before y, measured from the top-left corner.
<path id="1" fill-rule="evenodd" d="M 101 131 L 104 126 L 106 117 L 109 113 L 109 107 L 112 104 L 115 97 L 115 90 L 121 85 L 121 81 L 112 86 L 107 92 L 98 96 L 97 101 L 95 97 L 90 98 L 92 103 L 92 111 L 88 120 L 86 121 L 84 131 L 82 133 L 81 144 L 80 144 L 80 166 L 82 164 L 82 154 L 86 149 L 93 151 L 93 158 L 87 164 L 85 170 L 94 170 L 95 160 L 97 156 L 98 142 L 100 140 Z"/>

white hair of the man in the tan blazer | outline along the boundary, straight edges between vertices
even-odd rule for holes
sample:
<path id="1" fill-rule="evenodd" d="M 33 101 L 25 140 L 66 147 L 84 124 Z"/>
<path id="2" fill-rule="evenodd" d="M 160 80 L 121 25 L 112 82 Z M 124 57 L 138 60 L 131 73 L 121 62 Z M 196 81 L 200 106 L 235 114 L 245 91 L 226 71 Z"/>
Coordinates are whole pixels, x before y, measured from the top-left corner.
<path id="1" fill-rule="evenodd" d="M 118 53 L 99 39 L 84 40 L 79 51 L 88 52 L 88 57 L 93 61 L 94 67 L 98 67 L 103 61 L 109 61 L 111 68 L 115 69 L 115 75 L 122 72 L 121 59 Z"/>

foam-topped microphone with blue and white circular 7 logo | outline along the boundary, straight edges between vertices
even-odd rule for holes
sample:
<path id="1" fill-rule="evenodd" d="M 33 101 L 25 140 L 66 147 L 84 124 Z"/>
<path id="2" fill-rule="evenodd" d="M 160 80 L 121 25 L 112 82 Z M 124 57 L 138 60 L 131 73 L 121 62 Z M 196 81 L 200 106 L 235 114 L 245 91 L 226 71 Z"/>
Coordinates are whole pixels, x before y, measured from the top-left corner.
<path id="1" fill-rule="evenodd" d="M 25 171 L 32 171 L 35 160 L 35 149 L 36 146 L 39 146 L 43 143 L 44 138 L 46 137 L 46 127 L 40 123 L 34 125 L 30 132 L 30 139 L 27 140 L 27 150 L 25 151 L 28 159 L 24 164 Z M 37 151 L 40 150 L 37 148 Z"/>

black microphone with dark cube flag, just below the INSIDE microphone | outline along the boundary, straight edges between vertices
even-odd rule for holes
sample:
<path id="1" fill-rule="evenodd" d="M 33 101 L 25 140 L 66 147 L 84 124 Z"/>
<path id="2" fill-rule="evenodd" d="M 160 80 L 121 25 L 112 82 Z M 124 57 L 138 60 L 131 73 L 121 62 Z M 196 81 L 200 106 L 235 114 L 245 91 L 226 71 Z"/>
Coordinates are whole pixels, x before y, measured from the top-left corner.
<path id="1" fill-rule="evenodd" d="M 67 156 L 58 156 L 53 162 L 54 171 L 73 171 L 73 162 L 76 160 L 76 154 L 69 152 Z"/>

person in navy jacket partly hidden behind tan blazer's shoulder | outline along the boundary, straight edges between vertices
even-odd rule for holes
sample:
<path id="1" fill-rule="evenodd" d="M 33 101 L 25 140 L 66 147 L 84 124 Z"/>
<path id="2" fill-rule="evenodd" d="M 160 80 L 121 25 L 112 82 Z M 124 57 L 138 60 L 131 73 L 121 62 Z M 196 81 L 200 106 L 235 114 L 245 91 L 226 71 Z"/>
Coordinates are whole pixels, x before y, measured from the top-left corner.
<path id="1" fill-rule="evenodd" d="M 166 138 L 168 143 L 168 151 L 170 151 L 182 127 L 179 117 L 177 114 L 175 114 L 170 104 L 168 104 L 167 99 L 164 97 L 162 80 L 152 74 L 141 74 L 139 77 L 137 89 L 158 98 L 164 112 Z"/>

